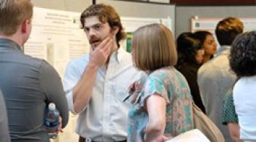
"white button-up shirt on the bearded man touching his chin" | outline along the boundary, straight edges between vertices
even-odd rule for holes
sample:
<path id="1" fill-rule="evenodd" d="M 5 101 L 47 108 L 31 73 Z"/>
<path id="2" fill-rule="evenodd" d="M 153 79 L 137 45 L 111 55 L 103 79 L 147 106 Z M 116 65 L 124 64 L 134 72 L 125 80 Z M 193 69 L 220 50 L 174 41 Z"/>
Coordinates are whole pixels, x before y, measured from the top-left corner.
<path id="1" fill-rule="evenodd" d="M 63 87 L 74 112 L 72 91 L 81 78 L 89 55 L 69 61 L 64 75 Z M 123 102 L 128 95 L 127 88 L 138 80 L 142 72 L 133 68 L 131 55 L 120 47 L 112 53 L 106 70 L 98 70 L 90 102 L 79 112 L 76 133 L 93 141 L 123 141 L 127 138 L 128 110 L 131 104 Z"/>

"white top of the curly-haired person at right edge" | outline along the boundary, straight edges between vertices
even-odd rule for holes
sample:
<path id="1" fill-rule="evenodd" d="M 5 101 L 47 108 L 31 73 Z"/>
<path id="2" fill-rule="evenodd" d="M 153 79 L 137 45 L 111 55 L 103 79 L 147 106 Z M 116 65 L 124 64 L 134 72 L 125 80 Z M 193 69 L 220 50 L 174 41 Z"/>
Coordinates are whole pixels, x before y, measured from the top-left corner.
<path id="1" fill-rule="evenodd" d="M 256 141 L 256 76 L 241 77 L 233 88 L 233 98 L 240 126 L 240 139 Z"/>

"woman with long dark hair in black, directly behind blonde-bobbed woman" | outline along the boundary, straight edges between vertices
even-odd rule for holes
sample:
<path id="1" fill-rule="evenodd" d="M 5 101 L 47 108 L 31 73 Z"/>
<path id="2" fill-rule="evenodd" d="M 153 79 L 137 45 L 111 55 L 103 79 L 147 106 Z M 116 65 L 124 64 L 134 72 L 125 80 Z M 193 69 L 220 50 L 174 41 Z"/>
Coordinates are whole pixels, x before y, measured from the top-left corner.
<path id="1" fill-rule="evenodd" d="M 176 67 L 187 79 L 196 106 L 206 113 L 197 82 L 198 68 L 203 63 L 202 43 L 194 33 L 181 33 L 177 38 L 177 50 L 179 58 Z"/>

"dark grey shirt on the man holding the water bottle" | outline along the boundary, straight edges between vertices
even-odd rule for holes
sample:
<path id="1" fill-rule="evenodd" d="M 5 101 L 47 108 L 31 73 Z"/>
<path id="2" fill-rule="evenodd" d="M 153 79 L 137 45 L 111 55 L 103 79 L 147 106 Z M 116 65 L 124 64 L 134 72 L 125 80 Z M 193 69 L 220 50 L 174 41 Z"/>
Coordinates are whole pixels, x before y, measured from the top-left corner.
<path id="1" fill-rule="evenodd" d="M 12 142 L 49 141 L 43 126 L 47 103 L 55 103 L 63 127 L 69 109 L 61 78 L 44 60 L 24 55 L 9 39 L 0 39 L 0 88 L 4 95 Z"/>

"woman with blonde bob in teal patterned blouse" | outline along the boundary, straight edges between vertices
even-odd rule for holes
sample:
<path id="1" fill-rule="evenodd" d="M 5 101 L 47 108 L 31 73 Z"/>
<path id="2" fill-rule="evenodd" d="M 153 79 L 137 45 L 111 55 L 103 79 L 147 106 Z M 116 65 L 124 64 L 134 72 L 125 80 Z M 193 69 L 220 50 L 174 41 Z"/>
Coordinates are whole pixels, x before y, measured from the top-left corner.
<path id="1" fill-rule="evenodd" d="M 162 24 L 145 25 L 133 33 L 133 65 L 147 73 L 136 87 L 129 111 L 128 141 L 165 141 L 194 128 L 193 98 L 184 76 L 174 68 L 174 36 Z M 134 90 L 134 89 L 133 89 Z"/>

